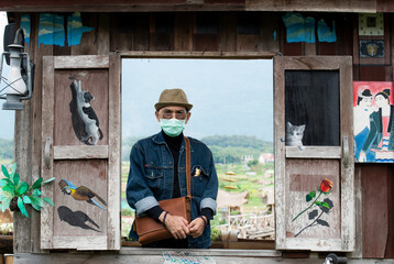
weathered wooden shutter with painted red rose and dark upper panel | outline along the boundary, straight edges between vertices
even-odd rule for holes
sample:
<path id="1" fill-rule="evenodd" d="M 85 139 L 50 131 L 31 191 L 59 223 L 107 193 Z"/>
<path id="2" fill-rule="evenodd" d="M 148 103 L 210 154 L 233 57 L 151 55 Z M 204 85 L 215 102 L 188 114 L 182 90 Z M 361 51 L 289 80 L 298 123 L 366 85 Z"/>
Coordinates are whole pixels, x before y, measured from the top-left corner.
<path id="1" fill-rule="evenodd" d="M 277 250 L 354 248 L 351 81 L 351 57 L 274 58 Z M 306 124 L 304 148 L 286 145 L 287 121 Z"/>

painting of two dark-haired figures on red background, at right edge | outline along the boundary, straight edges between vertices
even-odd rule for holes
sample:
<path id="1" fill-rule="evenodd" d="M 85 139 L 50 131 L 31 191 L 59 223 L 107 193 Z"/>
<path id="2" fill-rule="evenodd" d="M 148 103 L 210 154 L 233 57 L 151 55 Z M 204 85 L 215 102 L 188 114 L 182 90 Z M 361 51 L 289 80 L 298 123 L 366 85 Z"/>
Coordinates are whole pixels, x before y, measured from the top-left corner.
<path id="1" fill-rule="evenodd" d="M 393 105 L 392 81 L 353 81 L 354 155 L 358 162 L 394 163 Z"/>

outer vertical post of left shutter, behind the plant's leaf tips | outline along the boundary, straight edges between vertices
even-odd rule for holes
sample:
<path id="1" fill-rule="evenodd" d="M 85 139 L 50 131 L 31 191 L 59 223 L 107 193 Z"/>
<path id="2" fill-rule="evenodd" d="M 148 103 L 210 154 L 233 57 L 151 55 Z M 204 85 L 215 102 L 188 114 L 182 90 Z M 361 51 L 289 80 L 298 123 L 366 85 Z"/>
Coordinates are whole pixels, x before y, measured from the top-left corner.
<path id="1" fill-rule="evenodd" d="M 54 57 L 43 57 L 43 113 L 54 112 Z M 53 177 L 53 124 L 54 116 L 48 114 L 42 119 L 42 157 L 41 175 L 45 178 Z M 47 162 L 46 162 L 47 161 Z M 42 187 L 42 196 L 53 200 L 53 185 Z M 41 249 L 52 249 L 53 246 L 53 208 L 48 206 L 41 210 Z"/>

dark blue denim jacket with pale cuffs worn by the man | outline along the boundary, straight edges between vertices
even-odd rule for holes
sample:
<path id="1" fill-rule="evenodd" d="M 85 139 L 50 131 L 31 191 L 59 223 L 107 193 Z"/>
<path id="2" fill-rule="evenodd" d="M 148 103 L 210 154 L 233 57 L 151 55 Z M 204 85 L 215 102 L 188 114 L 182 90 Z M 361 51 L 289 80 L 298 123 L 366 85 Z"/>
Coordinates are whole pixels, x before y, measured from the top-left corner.
<path id="1" fill-rule="evenodd" d="M 191 168 L 191 221 L 200 216 L 203 208 L 210 208 L 216 213 L 216 198 L 218 194 L 218 176 L 216 174 L 214 157 L 210 150 L 200 141 L 190 140 L 190 168 Z M 180 145 L 178 177 L 180 196 L 187 195 L 186 188 L 186 154 L 185 141 Z M 174 184 L 174 165 L 171 151 L 160 132 L 136 142 L 130 154 L 130 173 L 127 186 L 127 199 L 136 216 L 154 206 L 157 201 L 171 199 Z M 195 174 L 195 172 L 198 172 Z M 138 239 L 133 229 L 130 238 Z M 210 246 L 210 226 L 206 227 L 199 238 L 188 239 L 190 249 L 205 249 Z"/>

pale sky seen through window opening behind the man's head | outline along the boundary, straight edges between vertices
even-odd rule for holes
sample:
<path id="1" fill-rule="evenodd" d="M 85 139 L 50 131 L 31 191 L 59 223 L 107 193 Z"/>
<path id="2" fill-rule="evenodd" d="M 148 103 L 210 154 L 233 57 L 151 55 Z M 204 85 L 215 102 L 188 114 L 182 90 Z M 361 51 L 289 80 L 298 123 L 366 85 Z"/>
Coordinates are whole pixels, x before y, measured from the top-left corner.
<path id="1" fill-rule="evenodd" d="M 250 135 L 273 142 L 272 70 L 272 59 L 123 59 L 123 138 L 157 133 L 154 105 L 160 94 L 182 88 L 194 105 L 186 135 Z"/>

